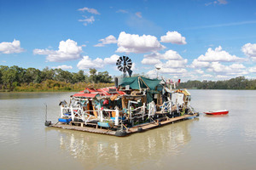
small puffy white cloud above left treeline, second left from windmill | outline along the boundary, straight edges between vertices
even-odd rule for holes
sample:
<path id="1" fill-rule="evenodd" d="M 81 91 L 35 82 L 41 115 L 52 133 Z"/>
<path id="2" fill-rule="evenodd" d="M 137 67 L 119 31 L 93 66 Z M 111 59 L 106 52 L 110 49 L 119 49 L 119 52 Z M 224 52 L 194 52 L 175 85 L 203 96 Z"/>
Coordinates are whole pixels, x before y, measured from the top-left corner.
<path id="1" fill-rule="evenodd" d="M 89 56 L 84 56 L 77 65 L 79 70 L 85 70 L 90 68 L 102 68 L 104 66 L 104 61 L 102 59 L 90 59 Z"/>

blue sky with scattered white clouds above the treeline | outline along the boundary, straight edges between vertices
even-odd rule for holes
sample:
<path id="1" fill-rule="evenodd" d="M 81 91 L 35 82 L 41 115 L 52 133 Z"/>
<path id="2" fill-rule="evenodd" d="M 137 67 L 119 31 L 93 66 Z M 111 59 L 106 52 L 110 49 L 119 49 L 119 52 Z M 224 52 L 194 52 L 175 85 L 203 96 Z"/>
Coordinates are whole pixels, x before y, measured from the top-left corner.
<path id="1" fill-rule="evenodd" d="M 0 0 L 0 65 L 120 76 L 124 55 L 152 78 L 254 79 L 256 1 Z"/>

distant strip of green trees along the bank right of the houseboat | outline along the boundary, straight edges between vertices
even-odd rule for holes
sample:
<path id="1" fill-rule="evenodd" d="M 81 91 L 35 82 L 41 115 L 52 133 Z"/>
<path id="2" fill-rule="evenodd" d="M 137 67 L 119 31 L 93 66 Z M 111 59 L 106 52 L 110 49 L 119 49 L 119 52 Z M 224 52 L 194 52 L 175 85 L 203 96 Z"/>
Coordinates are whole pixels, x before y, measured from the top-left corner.
<path id="1" fill-rule="evenodd" d="M 224 81 L 188 81 L 181 82 L 178 88 L 196 88 L 196 89 L 256 89 L 256 80 L 248 80 L 245 77 L 231 78 Z"/>

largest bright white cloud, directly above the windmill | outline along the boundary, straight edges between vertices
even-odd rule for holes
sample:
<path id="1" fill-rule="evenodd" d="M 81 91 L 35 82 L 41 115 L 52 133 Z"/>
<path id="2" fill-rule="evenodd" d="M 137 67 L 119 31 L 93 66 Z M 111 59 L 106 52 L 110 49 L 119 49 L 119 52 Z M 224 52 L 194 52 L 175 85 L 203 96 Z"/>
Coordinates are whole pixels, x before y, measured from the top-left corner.
<path id="1" fill-rule="evenodd" d="M 135 54 L 148 53 L 166 48 L 154 36 L 143 35 L 140 37 L 136 34 L 126 34 L 125 31 L 119 34 L 118 46 L 119 48 L 116 50 L 118 53 Z"/>

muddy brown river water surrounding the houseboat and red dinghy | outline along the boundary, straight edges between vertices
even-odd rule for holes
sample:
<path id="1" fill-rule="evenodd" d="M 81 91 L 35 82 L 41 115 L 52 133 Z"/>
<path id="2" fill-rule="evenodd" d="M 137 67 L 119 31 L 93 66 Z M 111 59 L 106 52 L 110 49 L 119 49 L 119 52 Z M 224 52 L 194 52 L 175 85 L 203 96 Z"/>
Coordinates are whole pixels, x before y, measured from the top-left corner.
<path id="1" fill-rule="evenodd" d="M 0 94 L 0 169 L 256 168 L 256 91 L 189 90 L 196 111 L 229 110 L 125 138 L 44 127 L 73 93 Z"/>

